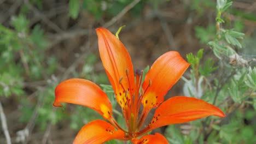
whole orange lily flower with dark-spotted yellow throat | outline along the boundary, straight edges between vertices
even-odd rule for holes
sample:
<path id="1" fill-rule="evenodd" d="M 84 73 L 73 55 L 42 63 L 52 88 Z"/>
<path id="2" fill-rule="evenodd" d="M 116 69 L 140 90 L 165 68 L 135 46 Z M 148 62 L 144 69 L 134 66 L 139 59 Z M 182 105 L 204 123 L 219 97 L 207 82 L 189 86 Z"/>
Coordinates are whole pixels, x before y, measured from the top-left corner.
<path id="1" fill-rule="evenodd" d="M 211 115 L 225 117 L 218 107 L 201 99 L 176 96 L 164 101 L 165 94 L 189 67 L 178 52 L 169 51 L 156 59 L 142 82 L 143 71 L 137 70 L 133 75 L 131 58 L 123 43 L 105 28 L 97 28 L 96 32 L 100 57 L 127 127 L 122 128 L 115 121 L 110 100 L 100 87 L 89 80 L 69 79 L 56 87 L 54 106 L 61 106 L 60 103 L 83 105 L 94 109 L 108 121 L 95 120 L 86 124 L 73 143 L 103 143 L 113 139 L 131 140 L 133 143 L 168 143 L 159 133 L 145 134 L 164 125 Z M 140 115 L 141 105 L 143 111 Z M 143 127 L 153 108 L 156 110 L 152 121 Z"/>

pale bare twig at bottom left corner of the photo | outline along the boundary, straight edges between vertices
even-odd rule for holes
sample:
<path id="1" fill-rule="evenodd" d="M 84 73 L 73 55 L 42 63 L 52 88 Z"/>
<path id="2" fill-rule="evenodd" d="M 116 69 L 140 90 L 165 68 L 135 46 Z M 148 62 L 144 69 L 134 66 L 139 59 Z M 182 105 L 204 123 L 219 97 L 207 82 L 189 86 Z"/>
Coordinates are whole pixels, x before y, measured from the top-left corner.
<path id="1" fill-rule="evenodd" d="M 2 121 L 2 129 L 3 129 L 3 132 L 4 132 L 6 142 L 7 142 L 7 144 L 11 144 L 10 134 L 9 134 L 9 131 L 8 131 L 6 117 L 4 115 L 3 106 L 2 106 L 1 101 L 0 101 L 0 117 L 1 117 L 1 121 Z"/>

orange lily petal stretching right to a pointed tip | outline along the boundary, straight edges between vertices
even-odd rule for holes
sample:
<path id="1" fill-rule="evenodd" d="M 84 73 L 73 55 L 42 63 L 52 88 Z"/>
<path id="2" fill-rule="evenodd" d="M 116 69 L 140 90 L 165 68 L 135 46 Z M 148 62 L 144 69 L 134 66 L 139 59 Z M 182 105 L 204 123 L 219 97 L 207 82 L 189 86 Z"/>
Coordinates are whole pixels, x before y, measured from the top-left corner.
<path id="1" fill-rule="evenodd" d="M 166 100 L 156 109 L 149 127 L 152 130 L 164 125 L 189 122 L 211 115 L 225 117 L 218 107 L 206 101 L 176 96 Z"/>

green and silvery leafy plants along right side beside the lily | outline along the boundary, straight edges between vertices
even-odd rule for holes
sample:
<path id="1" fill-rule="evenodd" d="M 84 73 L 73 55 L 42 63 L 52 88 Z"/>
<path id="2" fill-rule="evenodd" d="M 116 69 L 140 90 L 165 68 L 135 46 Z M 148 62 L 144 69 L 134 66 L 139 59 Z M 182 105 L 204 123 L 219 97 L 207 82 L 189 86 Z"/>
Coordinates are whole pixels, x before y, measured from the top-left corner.
<path id="1" fill-rule="evenodd" d="M 202 44 L 211 47 L 218 63 L 215 64 L 212 58 L 205 56 L 203 49 L 196 55 L 189 53 L 190 80 L 183 78 L 185 85 L 189 85 L 189 95 L 198 98 L 201 92 L 200 98 L 217 105 L 224 111 L 226 118 L 211 117 L 190 122 L 191 131 L 188 134 L 182 133 L 182 124 L 180 127 L 171 125 L 166 135 L 170 136 L 172 143 L 205 143 L 203 140 L 207 143 L 255 143 L 255 65 L 249 63 L 249 57 L 243 57 L 237 52 L 246 51 L 241 44 L 245 34 L 234 28 L 225 29 L 223 13 L 231 5 L 230 1 L 218 0 L 216 24 L 210 23 L 206 28 L 195 27 L 196 37 Z M 241 21 L 234 27 L 243 29 Z"/>

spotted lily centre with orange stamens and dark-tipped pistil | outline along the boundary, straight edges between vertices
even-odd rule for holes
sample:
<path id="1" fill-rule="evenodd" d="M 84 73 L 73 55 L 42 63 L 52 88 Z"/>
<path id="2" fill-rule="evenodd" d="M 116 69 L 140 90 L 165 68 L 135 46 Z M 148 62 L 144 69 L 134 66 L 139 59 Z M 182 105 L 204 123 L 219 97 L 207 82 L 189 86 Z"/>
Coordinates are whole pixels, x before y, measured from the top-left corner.
<path id="1" fill-rule="evenodd" d="M 139 116 L 139 108 L 141 104 L 143 104 L 143 106 L 144 104 L 147 105 L 149 103 L 152 105 L 156 104 L 157 97 L 155 97 L 155 94 L 153 93 L 152 98 L 154 99 L 143 100 L 142 103 L 143 93 L 146 92 L 148 87 L 150 87 L 152 84 L 151 80 L 149 80 L 149 85 L 146 89 L 144 89 L 143 92 L 141 89 L 142 75 L 143 70 L 136 70 L 136 82 L 135 87 L 133 88 L 130 85 L 129 70 L 126 69 L 126 77 L 121 77 L 119 79 L 119 92 L 115 93 L 118 103 L 124 113 L 125 122 L 128 128 L 127 137 L 130 138 L 137 137 L 136 133 L 140 130 L 149 112 L 142 113 L 141 116 Z M 123 85 L 124 79 L 127 80 L 127 83 L 129 83 L 128 87 L 127 85 Z"/>

